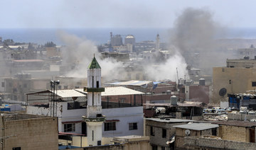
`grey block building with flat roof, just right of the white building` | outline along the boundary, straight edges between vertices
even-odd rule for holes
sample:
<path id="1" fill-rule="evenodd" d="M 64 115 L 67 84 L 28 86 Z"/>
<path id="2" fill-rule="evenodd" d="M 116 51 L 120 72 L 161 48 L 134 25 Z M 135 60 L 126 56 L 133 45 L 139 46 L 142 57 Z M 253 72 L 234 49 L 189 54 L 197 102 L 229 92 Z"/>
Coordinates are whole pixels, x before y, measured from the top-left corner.
<path id="1" fill-rule="evenodd" d="M 174 149 L 175 125 L 183 125 L 193 120 L 173 118 L 147 118 L 145 135 L 149 137 L 152 149 Z"/>

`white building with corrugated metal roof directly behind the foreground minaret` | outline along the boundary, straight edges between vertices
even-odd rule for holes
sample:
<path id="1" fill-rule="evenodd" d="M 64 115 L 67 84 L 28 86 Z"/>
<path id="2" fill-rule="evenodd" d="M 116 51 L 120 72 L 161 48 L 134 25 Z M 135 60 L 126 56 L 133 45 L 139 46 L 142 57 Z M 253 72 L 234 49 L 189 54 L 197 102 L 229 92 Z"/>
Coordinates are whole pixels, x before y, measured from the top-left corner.
<path id="1" fill-rule="evenodd" d="M 38 91 L 27 93 L 28 103 L 42 102 L 45 104 L 28 105 L 26 113 L 34 115 L 50 116 L 48 98 L 51 91 Z M 128 96 L 142 95 L 144 93 L 134 91 L 124 87 L 106 87 L 102 96 Z M 87 115 L 87 92 L 83 88 L 58 90 L 57 97 L 60 99 L 57 105 L 58 130 L 59 132 L 69 132 L 77 134 L 87 134 L 86 123 L 82 121 L 82 116 Z M 102 101 L 102 114 L 106 119 L 102 126 L 102 137 L 119 137 L 127 135 L 143 135 L 143 107 L 131 106 L 120 103 L 107 108 L 107 102 Z M 122 108 L 121 108 L 122 107 Z"/>

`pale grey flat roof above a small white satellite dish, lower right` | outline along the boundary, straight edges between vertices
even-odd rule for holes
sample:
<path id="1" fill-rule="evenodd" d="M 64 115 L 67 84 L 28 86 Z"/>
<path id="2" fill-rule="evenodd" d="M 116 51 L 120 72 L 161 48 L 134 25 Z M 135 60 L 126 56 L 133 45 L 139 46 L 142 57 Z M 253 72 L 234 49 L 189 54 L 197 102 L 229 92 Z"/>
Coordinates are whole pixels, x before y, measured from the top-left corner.
<path id="1" fill-rule="evenodd" d="M 201 131 L 205 129 L 212 129 L 219 126 L 211 123 L 191 123 L 186 125 L 175 125 L 174 127 Z"/>

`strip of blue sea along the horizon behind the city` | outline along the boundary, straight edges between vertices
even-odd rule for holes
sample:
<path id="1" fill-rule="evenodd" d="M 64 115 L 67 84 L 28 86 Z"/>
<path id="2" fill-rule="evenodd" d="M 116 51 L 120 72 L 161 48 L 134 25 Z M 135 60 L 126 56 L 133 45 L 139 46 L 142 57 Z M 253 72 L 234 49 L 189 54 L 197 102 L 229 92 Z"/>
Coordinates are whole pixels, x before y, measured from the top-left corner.
<path id="1" fill-rule="evenodd" d="M 134 35 L 136 42 L 144 40 L 156 40 L 160 35 L 161 42 L 169 40 L 171 29 L 169 28 L 6 28 L 0 29 L 0 37 L 12 39 L 14 42 L 33 42 L 44 45 L 53 41 L 57 45 L 65 45 L 58 37 L 58 31 L 64 31 L 78 37 L 86 37 L 97 45 L 107 43 L 110 40 L 110 32 L 113 35 Z M 216 38 L 248 38 L 256 39 L 256 28 L 229 28 L 223 35 L 216 35 Z"/>

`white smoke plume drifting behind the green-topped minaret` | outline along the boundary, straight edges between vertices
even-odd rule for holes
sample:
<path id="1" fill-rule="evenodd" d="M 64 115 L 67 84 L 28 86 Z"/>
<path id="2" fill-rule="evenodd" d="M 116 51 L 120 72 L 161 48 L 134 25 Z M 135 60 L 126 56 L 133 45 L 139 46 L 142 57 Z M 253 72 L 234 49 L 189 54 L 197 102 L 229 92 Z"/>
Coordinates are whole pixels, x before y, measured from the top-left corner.
<path id="1" fill-rule="evenodd" d="M 100 67 L 103 68 L 102 76 L 105 79 L 118 77 L 117 71 L 120 71 L 122 63 L 116 62 L 114 59 L 100 59 L 100 54 L 94 42 L 87 40 L 85 37 L 77 37 L 63 31 L 58 32 L 58 37 L 65 43 L 65 47 L 62 50 L 63 65 L 74 66 L 74 69 L 68 71 L 66 76 L 86 77 L 87 67 L 95 55 Z"/>

